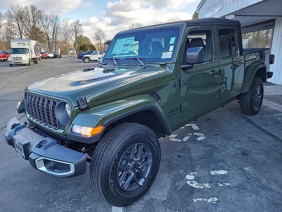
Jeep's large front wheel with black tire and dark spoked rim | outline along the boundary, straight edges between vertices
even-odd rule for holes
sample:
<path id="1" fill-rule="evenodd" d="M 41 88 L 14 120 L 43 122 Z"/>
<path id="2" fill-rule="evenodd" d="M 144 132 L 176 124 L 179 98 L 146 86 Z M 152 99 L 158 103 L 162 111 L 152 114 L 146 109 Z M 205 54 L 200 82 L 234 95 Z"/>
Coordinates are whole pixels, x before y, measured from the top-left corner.
<path id="1" fill-rule="evenodd" d="M 136 151 L 131 156 L 133 149 Z M 95 148 L 90 164 L 92 186 L 105 202 L 116 207 L 130 205 L 151 187 L 160 159 L 159 140 L 151 129 L 136 123 L 120 124 L 109 130 Z"/>

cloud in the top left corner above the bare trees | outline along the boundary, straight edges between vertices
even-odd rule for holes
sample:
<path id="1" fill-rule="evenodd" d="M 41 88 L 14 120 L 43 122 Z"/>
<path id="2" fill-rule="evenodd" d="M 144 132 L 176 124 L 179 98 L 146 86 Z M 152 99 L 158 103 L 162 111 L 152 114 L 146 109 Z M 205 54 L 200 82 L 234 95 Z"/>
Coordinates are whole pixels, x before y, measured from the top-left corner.
<path id="1" fill-rule="evenodd" d="M 37 6 L 38 9 L 42 9 L 48 13 L 56 13 L 56 14 L 63 14 L 72 9 L 79 7 L 80 5 L 83 6 L 90 6 L 91 2 L 83 2 L 83 0 L 13 0 L 13 1 L 6 1 L 2 0 L 0 4 L 0 9 L 6 9 L 9 5 L 29 5 L 34 4 Z"/>

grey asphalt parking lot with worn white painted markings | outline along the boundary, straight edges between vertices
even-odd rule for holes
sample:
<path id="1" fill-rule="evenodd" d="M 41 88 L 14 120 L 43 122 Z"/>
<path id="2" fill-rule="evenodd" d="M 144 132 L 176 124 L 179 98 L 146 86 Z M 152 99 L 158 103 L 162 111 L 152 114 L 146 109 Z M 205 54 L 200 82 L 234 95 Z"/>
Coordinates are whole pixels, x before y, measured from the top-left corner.
<path id="1" fill-rule="evenodd" d="M 136 203 L 112 207 L 87 173 L 57 178 L 34 170 L 5 141 L 24 88 L 37 80 L 97 66 L 76 57 L 32 66 L 0 62 L 0 211 L 281 211 L 282 113 L 262 105 L 255 116 L 236 101 L 160 139 L 159 174 Z"/>

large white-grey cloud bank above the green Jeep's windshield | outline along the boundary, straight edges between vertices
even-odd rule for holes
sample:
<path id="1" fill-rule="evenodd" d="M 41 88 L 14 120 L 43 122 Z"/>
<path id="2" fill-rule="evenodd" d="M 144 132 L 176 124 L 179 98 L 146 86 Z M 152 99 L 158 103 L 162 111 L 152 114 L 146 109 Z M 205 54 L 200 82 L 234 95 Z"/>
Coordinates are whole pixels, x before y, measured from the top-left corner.
<path id="1" fill-rule="evenodd" d="M 123 30 L 134 22 L 142 22 L 145 26 L 163 22 L 175 16 L 182 20 L 191 19 L 192 14 L 177 12 L 180 7 L 189 6 L 199 0 L 119 0 L 108 2 L 106 10 L 99 16 L 80 20 L 84 26 L 84 35 L 92 39 L 94 32 L 100 28 L 107 38 Z"/>

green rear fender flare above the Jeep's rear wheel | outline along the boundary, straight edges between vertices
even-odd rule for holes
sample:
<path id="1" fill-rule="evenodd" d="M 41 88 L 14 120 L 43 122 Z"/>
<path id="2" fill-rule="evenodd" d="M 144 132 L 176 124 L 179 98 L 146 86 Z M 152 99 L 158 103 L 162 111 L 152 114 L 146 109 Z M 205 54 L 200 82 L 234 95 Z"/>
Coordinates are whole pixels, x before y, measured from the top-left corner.
<path id="1" fill-rule="evenodd" d="M 259 60 L 259 61 L 255 61 L 252 64 L 250 64 L 249 66 L 247 66 L 246 68 L 246 74 L 245 74 L 245 79 L 242 85 L 242 90 L 241 93 L 247 93 L 252 81 L 255 77 L 255 73 L 259 68 L 263 68 L 266 67 L 266 64 L 264 63 L 264 61 Z"/>

